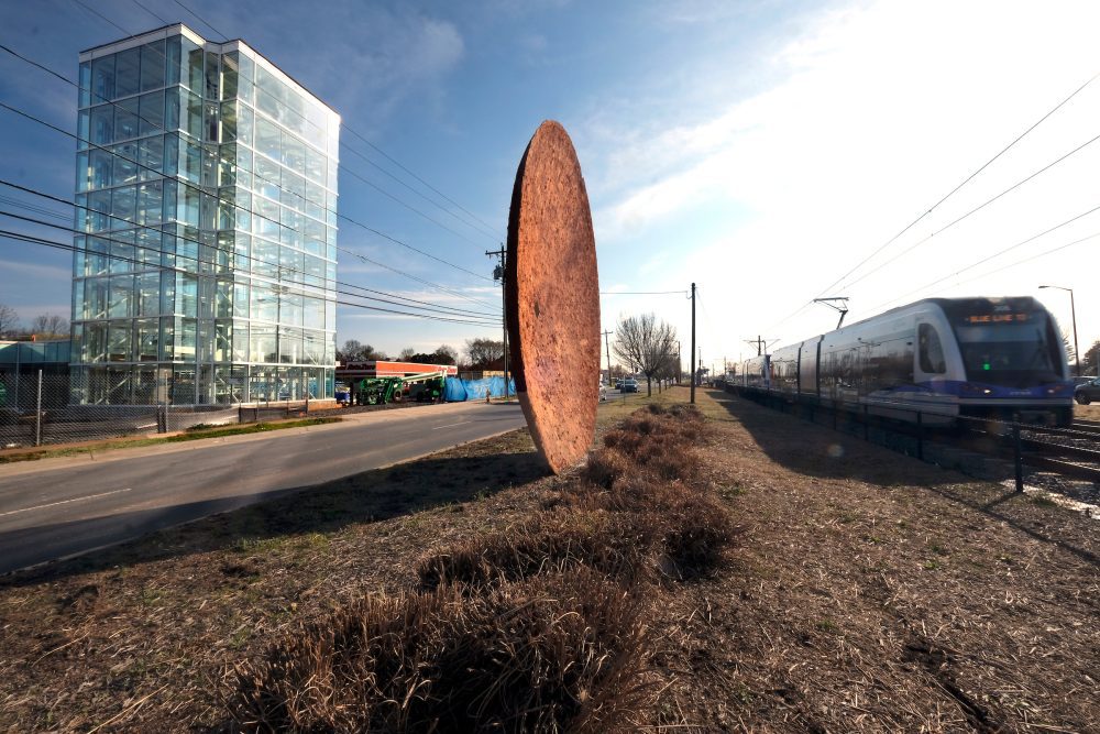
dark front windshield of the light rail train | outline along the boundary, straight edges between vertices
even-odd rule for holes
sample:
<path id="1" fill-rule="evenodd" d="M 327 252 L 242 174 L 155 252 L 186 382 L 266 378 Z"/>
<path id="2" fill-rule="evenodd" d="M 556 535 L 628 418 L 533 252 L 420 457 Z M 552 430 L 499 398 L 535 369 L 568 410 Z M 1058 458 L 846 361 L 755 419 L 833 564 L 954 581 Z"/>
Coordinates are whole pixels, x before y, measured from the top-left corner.
<path id="1" fill-rule="evenodd" d="M 1062 380 L 1062 351 L 1043 311 L 967 316 L 955 324 L 970 382 L 1026 387 Z"/>

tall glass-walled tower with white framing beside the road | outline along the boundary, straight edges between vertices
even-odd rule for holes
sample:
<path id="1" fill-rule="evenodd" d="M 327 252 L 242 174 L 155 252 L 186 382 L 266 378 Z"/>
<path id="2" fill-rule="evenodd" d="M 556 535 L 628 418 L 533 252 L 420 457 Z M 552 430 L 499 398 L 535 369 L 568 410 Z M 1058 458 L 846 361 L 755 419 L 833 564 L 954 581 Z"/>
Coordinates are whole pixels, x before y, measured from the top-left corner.
<path id="1" fill-rule="evenodd" d="M 80 54 L 74 403 L 333 397 L 339 133 L 241 41 Z"/>

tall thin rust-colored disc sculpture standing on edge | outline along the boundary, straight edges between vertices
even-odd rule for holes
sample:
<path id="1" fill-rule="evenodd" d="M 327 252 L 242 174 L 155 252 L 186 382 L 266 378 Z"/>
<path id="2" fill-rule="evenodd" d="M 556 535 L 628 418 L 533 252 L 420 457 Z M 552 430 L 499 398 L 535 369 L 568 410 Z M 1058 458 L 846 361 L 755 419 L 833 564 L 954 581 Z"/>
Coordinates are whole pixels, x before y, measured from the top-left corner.
<path id="1" fill-rule="evenodd" d="M 600 277 L 588 195 L 565 129 L 527 145 L 508 215 L 505 272 L 516 392 L 554 473 L 592 445 L 600 401 Z"/>

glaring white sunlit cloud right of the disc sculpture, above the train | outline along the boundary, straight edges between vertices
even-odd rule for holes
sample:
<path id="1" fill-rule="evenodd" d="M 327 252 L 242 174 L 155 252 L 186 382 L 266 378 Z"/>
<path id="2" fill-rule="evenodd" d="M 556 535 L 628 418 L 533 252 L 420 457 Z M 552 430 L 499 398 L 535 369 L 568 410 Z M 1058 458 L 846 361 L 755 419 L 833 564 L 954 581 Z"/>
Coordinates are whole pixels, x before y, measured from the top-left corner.
<path id="1" fill-rule="evenodd" d="M 654 114 L 669 105 L 649 111 L 613 105 L 578 135 L 594 151 L 586 177 L 601 249 L 612 255 L 605 276 L 632 275 L 631 289 L 646 289 L 637 285 L 654 283 L 656 273 L 667 285 L 700 282 L 712 316 L 722 314 L 705 339 L 727 352 L 736 352 L 741 332 L 781 321 L 840 278 L 1098 70 L 1093 4 L 861 3 L 801 25 L 805 32 L 754 69 L 774 74 L 770 88 L 745 95 L 732 78 L 723 92 L 715 78 L 700 78 L 713 99 L 705 108 Z M 684 99 L 700 97 L 683 91 Z M 914 247 L 1100 132 L 1097 119 L 1100 83 L 847 278 L 847 287 L 824 295 L 853 297 L 851 316 L 866 317 L 876 305 L 1096 206 L 1100 150 L 1067 160 Z M 610 152 L 602 154 L 600 144 Z M 1082 220 L 974 273 L 1097 229 L 1100 217 Z M 670 244 L 669 232 L 680 241 Z M 853 284 L 906 248 L 910 254 Z M 1079 256 L 1097 252 L 1081 248 Z M 630 275 L 616 266 L 626 250 L 660 249 L 678 258 L 659 269 L 631 264 Z M 1054 307 L 1048 291 L 1034 288 L 1042 278 L 1071 281 L 1072 252 L 946 295 L 1033 293 Z M 1096 272 L 1100 255 L 1090 262 Z M 1077 305 L 1080 327 L 1080 295 Z M 669 308 L 685 332 L 683 309 Z M 776 328 L 794 340 L 834 325 L 835 314 L 818 306 Z M 1088 328 L 1100 335 L 1096 318 Z"/>

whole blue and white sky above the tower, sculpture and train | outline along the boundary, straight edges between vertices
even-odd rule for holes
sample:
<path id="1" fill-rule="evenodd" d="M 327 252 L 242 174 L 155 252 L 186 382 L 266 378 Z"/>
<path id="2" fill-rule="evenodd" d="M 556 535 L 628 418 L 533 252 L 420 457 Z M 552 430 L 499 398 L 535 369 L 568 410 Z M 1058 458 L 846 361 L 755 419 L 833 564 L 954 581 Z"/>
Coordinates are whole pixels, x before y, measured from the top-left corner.
<path id="1" fill-rule="evenodd" d="M 393 270 L 341 252 L 341 282 L 498 313 L 484 253 L 553 119 L 585 178 L 604 330 L 653 313 L 686 362 L 695 283 L 715 370 L 757 338 L 835 328 L 812 303 L 825 296 L 847 297 L 854 322 L 925 297 L 1031 295 L 1071 342 L 1069 293 L 1038 287 L 1056 285 L 1072 289 L 1081 349 L 1100 339 L 1100 3 L 87 6 L 125 33 L 76 0 L 0 0 L 0 43 L 75 78 L 81 50 L 163 25 L 154 13 L 241 37 L 340 113 L 340 212 L 463 269 L 342 222 L 341 248 Z M 0 101 L 75 130 L 74 88 L 3 52 Z M 0 178 L 72 199 L 73 149 L 0 109 Z M 0 198 L 28 213 L 12 206 Z M 24 320 L 67 317 L 70 282 L 68 253 L 0 239 L 0 303 Z M 339 343 L 392 354 L 499 333 L 338 309 Z"/>

